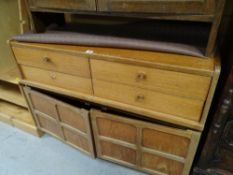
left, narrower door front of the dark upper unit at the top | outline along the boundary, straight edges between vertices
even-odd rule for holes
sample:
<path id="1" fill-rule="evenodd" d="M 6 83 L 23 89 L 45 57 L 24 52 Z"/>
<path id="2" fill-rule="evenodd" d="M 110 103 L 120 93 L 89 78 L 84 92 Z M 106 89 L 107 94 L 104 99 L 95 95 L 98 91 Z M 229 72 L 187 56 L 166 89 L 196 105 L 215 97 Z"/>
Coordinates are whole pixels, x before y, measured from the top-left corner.
<path id="1" fill-rule="evenodd" d="M 30 8 L 96 11 L 95 0 L 29 0 Z"/>

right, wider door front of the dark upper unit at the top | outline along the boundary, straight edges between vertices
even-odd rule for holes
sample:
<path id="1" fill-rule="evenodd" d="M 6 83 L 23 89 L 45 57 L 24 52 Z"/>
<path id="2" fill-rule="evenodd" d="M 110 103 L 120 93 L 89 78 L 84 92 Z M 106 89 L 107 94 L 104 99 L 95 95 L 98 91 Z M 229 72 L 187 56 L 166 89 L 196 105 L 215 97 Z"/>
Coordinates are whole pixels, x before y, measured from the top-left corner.
<path id="1" fill-rule="evenodd" d="M 98 0 L 105 12 L 210 14 L 215 5 L 216 0 Z"/>

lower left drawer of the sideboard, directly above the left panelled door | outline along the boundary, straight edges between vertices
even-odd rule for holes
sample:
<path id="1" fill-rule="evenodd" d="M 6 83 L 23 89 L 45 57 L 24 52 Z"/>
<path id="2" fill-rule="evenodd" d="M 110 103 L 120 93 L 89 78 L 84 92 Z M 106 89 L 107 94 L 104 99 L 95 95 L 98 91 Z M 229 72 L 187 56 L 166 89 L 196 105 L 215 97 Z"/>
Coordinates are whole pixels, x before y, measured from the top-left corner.
<path id="1" fill-rule="evenodd" d="M 67 90 L 93 94 L 90 78 L 53 72 L 28 66 L 20 66 L 26 80 L 43 83 Z"/>

